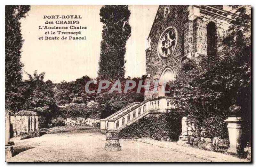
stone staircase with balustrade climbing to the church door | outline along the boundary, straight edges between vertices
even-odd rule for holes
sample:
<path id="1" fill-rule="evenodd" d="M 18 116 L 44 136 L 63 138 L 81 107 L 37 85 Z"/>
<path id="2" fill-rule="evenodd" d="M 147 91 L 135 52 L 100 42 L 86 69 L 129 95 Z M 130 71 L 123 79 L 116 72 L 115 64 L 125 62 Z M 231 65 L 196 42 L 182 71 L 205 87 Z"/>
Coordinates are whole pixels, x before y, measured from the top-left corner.
<path id="1" fill-rule="evenodd" d="M 106 130 L 120 131 L 125 126 L 131 125 L 149 114 L 159 114 L 174 109 L 171 104 L 173 98 L 158 97 L 144 102 L 130 103 L 107 118 L 100 119 L 100 131 L 101 133 L 106 133 Z"/>

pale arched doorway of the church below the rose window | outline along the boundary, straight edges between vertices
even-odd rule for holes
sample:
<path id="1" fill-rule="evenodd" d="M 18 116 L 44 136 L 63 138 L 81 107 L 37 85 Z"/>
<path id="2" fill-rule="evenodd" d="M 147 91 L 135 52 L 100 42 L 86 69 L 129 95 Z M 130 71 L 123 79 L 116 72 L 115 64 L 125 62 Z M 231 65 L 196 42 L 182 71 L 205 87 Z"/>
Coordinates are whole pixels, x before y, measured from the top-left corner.
<path id="1" fill-rule="evenodd" d="M 175 72 L 172 69 L 172 67 L 167 66 L 165 67 L 159 79 L 158 97 L 165 96 L 164 91 L 162 90 L 162 87 L 164 86 L 166 90 L 167 88 L 166 83 L 171 80 L 175 80 Z"/>

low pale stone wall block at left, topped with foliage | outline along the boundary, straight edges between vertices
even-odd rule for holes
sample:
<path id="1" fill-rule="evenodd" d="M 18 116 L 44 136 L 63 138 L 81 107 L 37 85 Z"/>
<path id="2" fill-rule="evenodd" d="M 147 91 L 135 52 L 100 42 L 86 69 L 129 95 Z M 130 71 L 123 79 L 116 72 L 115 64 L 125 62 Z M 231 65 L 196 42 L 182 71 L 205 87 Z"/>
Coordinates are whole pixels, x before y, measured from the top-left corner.
<path id="1" fill-rule="evenodd" d="M 39 136 L 38 116 L 11 116 L 10 122 L 13 136 Z"/>

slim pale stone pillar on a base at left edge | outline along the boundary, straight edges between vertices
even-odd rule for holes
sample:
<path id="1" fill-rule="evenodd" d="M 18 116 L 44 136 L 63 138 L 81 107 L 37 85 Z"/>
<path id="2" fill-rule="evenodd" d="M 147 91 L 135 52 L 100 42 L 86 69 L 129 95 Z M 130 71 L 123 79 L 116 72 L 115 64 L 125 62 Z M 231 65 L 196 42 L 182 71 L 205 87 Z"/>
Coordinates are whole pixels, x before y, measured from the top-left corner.
<path id="1" fill-rule="evenodd" d="M 13 142 L 10 142 L 10 113 L 5 110 L 5 159 L 13 156 Z"/>

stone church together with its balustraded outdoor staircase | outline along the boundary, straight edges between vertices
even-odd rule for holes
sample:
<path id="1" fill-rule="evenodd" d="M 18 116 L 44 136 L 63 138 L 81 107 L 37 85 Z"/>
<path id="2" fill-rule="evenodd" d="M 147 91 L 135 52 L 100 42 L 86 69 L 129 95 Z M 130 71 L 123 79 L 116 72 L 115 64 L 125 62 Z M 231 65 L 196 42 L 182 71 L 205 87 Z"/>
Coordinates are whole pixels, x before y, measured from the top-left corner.
<path id="1" fill-rule="evenodd" d="M 144 102 L 130 103 L 101 119 L 101 132 L 121 130 L 147 115 L 175 109 L 171 104 L 173 95 L 165 94 L 162 87 L 175 79 L 182 62 L 216 54 L 236 17 L 234 10 L 224 5 L 160 5 L 146 49 L 146 82 L 151 84 L 149 93 L 145 91 Z M 155 81 L 159 81 L 157 87 Z"/>

